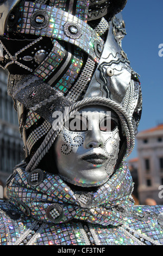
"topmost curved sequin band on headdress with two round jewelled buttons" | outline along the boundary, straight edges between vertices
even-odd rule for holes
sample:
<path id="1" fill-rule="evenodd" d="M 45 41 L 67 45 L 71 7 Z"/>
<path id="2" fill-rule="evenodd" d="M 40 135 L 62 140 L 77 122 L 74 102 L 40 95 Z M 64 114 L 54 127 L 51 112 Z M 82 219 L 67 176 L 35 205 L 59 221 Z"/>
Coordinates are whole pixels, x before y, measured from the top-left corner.
<path id="1" fill-rule="evenodd" d="M 16 33 L 48 36 L 70 42 L 98 62 L 99 57 L 94 48 L 95 41 L 102 46 L 104 42 L 86 22 L 58 8 L 33 2 L 21 2 L 19 10 L 21 19 Z M 42 16 L 43 21 L 40 20 Z M 12 31 L 12 28 L 8 29 L 9 32 Z M 72 32 L 71 29 L 73 29 Z"/>

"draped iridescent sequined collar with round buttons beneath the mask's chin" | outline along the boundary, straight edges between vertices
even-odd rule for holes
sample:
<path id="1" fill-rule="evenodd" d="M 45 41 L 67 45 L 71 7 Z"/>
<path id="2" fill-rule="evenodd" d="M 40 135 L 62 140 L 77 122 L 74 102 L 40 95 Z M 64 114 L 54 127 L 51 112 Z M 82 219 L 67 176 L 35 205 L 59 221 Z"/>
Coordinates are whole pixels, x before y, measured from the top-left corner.
<path id="1" fill-rule="evenodd" d="M 123 224 L 133 211 L 133 181 L 126 163 L 93 192 L 72 190 L 56 174 L 36 169 L 15 169 L 8 181 L 7 196 L 25 215 L 48 223 L 73 219 L 102 225 Z"/>

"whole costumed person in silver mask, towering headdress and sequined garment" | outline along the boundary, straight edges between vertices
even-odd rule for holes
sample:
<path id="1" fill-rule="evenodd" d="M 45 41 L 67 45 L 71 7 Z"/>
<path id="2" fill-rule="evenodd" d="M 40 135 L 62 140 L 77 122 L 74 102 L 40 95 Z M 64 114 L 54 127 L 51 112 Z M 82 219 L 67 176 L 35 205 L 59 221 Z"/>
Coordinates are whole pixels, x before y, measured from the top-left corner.
<path id="1" fill-rule="evenodd" d="M 0 1 L 0 66 L 26 157 L 0 203 L 2 245 L 161 245 L 126 158 L 142 109 L 121 41 L 125 0 Z"/>

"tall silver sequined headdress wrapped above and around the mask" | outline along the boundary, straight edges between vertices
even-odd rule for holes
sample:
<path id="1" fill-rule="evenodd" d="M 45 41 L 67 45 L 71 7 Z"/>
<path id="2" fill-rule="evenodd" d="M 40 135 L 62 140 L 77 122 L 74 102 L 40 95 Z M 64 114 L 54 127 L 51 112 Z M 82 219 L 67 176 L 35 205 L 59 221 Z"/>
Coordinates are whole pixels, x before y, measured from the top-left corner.
<path id="1" fill-rule="evenodd" d="M 65 107 L 110 107 L 127 138 L 125 157 L 133 150 L 142 99 L 121 46 L 126 2 L 0 1 L 0 66 L 9 70 L 28 170 L 51 148 L 63 125 L 52 127 L 53 113 Z"/>

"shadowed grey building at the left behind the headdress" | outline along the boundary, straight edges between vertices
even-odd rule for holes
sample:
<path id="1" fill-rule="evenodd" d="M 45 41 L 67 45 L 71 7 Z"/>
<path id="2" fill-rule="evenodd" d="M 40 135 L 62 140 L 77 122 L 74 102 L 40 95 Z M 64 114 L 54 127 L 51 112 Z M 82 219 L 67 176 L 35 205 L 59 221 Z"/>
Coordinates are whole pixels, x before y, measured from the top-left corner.
<path id="1" fill-rule="evenodd" d="M 18 131 L 17 112 L 7 93 L 8 73 L 0 69 L 0 183 L 5 184 L 22 160 L 23 144 Z"/>

